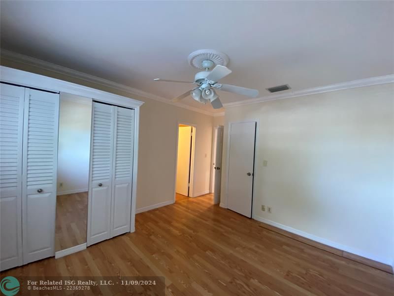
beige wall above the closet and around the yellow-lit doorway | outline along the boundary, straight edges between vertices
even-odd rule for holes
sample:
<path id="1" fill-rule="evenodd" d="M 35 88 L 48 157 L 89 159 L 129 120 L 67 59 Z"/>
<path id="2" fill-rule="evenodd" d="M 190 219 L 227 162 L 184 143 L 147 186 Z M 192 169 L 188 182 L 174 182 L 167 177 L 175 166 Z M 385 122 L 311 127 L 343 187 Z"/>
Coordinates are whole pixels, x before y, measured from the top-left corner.
<path id="1" fill-rule="evenodd" d="M 5 59 L 1 59 L 1 65 L 78 83 L 145 102 L 140 109 L 136 209 L 171 202 L 174 199 L 178 122 L 197 125 L 194 195 L 209 192 L 213 116 Z"/>

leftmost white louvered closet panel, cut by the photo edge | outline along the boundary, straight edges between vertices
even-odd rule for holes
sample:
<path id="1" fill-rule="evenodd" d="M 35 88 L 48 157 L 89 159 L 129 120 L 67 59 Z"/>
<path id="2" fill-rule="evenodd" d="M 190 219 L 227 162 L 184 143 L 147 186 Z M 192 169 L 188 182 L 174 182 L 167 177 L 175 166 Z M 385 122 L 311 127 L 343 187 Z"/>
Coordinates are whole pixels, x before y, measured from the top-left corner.
<path id="1" fill-rule="evenodd" d="M 25 88 L 0 84 L 0 268 L 22 265 L 22 140 Z"/>

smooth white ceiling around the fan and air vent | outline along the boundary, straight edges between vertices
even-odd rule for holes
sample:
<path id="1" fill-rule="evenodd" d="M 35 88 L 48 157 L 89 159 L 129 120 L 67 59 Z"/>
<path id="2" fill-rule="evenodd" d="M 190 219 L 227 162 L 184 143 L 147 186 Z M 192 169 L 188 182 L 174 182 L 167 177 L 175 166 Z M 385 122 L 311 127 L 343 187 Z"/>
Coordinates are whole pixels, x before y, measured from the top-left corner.
<path id="1" fill-rule="evenodd" d="M 393 1 L 1 1 L 0 25 L 4 49 L 168 100 L 189 86 L 153 78 L 192 80 L 203 48 L 230 57 L 221 82 L 261 97 L 394 73 Z"/>

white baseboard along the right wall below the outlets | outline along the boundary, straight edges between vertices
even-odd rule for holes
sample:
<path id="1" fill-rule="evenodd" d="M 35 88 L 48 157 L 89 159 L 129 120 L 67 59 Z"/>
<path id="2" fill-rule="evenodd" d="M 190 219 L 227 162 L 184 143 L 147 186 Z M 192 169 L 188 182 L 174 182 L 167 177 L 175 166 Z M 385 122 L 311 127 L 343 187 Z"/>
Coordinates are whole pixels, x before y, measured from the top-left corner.
<path id="1" fill-rule="evenodd" d="M 322 238 L 322 237 L 319 237 L 319 236 L 315 236 L 313 234 L 310 234 L 310 233 L 307 233 L 307 232 L 304 232 L 304 231 L 301 231 L 301 230 L 298 230 L 298 229 L 295 229 L 295 228 L 292 228 L 290 226 L 286 226 L 286 225 L 283 225 L 283 224 L 280 224 L 280 223 L 277 223 L 277 222 L 273 222 L 271 220 L 268 220 L 268 219 L 265 219 L 265 218 L 262 218 L 262 217 L 259 217 L 259 216 L 256 216 L 256 215 L 252 215 L 252 218 L 257 220 L 257 221 L 260 221 L 260 222 L 263 222 L 263 223 L 266 223 L 266 224 L 278 227 L 280 229 L 289 231 L 291 233 L 297 234 L 299 236 L 311 239 L 311 240 L 313 240 L 315 242 L 327 245 L 329 247 L 333 247 L 333 248 L 336 248 L 336 249 L 339 249 L 339 250 L 342 250 L 342 251 L 345 251 L 345 252 L 348 252 L 348 253 L 352 253 L 352 254 L 355 254 L 355 255 L 367 258 L 367 259 L 371 259 L 371 260 L 374 260 L 374 261 L 377 261 L 377 262 L 381 262 L 381 263 L 384 263 L 384 264 L 387 264 L 387 265 L 391 265 L 393 263 L 393 259 L 391 259 L 391 258 L 390 259 L 389 258 L 383 258 L 383 257 L 380 257 L 380 256 L 376 256 L 376 255 L 372 255 L 372 254 L 369 254 L 369 253 L 365 253 L 365 252 L 363 252 L 361 250 L 354 249 L 354 248 L 349 247 L 349 246 L 341 245 L 341 244 L 332 242 L 332 241 L 330 241 L 328 239 L 325 239 L 325 238 Z"/>

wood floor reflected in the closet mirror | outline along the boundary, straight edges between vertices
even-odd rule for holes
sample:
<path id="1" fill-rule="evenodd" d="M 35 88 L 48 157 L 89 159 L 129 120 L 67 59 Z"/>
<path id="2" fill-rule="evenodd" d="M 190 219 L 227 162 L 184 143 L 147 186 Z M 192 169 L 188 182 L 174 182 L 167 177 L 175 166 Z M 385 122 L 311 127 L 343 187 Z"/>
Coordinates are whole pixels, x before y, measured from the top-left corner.
<path id="1" fill-rule="evenodd" d="M 57 196 L 55 250 L 86 243 L 87 219 L 88 192 Z"/>

